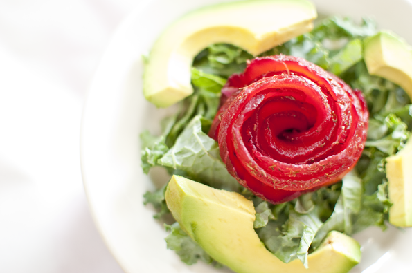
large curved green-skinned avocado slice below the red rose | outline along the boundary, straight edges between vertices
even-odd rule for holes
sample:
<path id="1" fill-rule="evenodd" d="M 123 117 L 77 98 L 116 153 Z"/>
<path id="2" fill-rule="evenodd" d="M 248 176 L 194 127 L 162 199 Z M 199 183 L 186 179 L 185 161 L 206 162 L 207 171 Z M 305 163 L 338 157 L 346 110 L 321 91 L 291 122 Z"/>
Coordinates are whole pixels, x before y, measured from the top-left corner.
<path id="1" fill-rule="evenodd" d="M 216 261 L 238 273 L 343 273 L 360 261 L 355 239 L 330 232 L 308 255 L 309 269 L 298 260 L 283 263 L 253 229 L 253 203 L 235 192 L 172 176 L 165 200 L 181 228 Z"/>

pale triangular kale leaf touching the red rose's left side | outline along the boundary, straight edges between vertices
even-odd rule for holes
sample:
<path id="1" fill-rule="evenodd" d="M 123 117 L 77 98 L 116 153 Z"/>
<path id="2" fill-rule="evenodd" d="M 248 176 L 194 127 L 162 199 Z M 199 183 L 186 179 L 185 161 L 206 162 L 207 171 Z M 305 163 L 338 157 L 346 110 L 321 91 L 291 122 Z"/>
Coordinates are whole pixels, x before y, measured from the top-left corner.
<path id="1" fill-rule="evenodd" d="M 217 189 L 240 191 L 241 186 L 220 160 L 217 142 L 202 131 L 202 122 L 201 116 L 195 116 L 158 164 L 185 171 L 188 178 Z"/>

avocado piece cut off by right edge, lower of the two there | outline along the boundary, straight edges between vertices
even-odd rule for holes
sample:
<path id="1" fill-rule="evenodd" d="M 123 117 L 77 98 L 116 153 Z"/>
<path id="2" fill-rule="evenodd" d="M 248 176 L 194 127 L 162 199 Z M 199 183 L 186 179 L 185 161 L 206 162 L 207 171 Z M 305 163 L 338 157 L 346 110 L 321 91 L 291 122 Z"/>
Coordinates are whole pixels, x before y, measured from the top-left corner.
<path id="1" fill-rule="evenodd" d="M 386 158 L 388 178 L 389 223 L 398 227 L 412 227 L 412 140 L 395 156 Z"/>

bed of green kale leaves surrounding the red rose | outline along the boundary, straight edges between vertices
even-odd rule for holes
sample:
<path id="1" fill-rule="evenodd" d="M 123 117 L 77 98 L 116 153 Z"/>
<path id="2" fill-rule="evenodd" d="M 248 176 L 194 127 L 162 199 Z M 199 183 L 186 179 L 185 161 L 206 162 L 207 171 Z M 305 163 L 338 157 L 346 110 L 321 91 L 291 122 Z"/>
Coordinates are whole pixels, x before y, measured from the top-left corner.
<path id="1" fill-rule="evenodd" d="M 386 158 L 401 151 L 409 140 L 412 106 L 400 86 L 368 73 L 362 46 L 377 32 L 371 19 L 357 24 L 348 18 L 329 17 L 316 23 L 312 31 L 260 54 L 303 58 L 362 92 L 369 113 L 367 139 L 359 160 L 355 160 L 357 164 L 341 181 L 316 191 L 303 191 L 286 202 L 271 202 L 240 185 L 228 172 L 221 160 L 220 143 L 210 131 L 222 107 L 221 91 L 228 78 L 243 73 L 255 58 L 231 44 L 212 44 L 202 50 L 191 69 L 194 93 L 179 102 L 177 113 L 162 120 L 162 135 L 148 131 L 141 134 L 143 170 L 148 173 L 152 167 L 161 166 L 170 175 L 234 191 L 251 200 L 256 209 L 253 227 L 260 241 L 284 263 L 297 259 L 307 267 L 307 256 L 333 230 L 347 235 L 370 226 L 385 230 L 390 225 L 388 211 L 392 205 Z M 147 192 L 144 197 L 145 204 L 152 204 L 158 211 L 154 218 L 167 222 L 168 248 L 188 265 L 201 260 L 222 266 L 179 223 L 170 220 L 166 187 Z"/>

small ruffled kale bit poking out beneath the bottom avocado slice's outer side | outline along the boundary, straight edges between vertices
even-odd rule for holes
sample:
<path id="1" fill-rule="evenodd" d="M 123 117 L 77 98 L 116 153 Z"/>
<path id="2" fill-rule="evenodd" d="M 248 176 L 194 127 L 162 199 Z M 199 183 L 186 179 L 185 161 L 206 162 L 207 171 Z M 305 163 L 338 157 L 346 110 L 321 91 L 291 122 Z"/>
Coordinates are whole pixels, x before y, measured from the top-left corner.
<path id="1" fill-rule="evenodd" d="M 179 226 L 179 223 L 174 223 L 172 225 L 165 225 L 166 231 L 171 232 L 165 241 L 168 244 L 169 250 L 174 250 L 174 252 L 179 255 L 183 263 L 192 265 L 197 263 L 197 260 L 204 261 L 205 263 L 212 263 L 213 258 L 209 256 L 195 241 L 192 240 L 183 232 L 183 229 Z"/>

